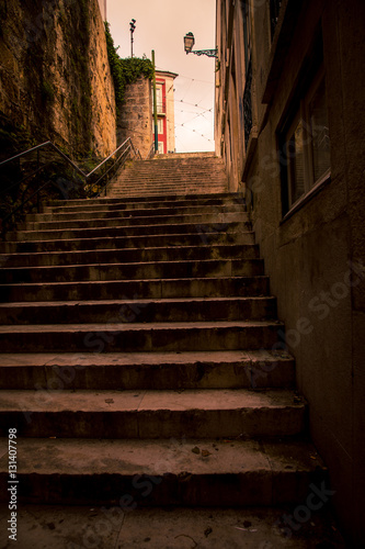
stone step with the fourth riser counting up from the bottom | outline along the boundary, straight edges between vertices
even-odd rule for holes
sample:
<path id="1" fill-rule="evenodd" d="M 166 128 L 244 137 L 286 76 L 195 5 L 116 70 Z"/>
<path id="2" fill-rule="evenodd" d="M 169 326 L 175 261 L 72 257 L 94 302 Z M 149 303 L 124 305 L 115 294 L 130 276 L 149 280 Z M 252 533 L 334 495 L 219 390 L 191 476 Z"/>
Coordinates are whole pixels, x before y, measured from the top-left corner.
<path id="1" fill-rule="evenodd" d="M 277 350 L 283 338 L 284 326 L 266 321 L 0 326 L 2 352 Z"/>

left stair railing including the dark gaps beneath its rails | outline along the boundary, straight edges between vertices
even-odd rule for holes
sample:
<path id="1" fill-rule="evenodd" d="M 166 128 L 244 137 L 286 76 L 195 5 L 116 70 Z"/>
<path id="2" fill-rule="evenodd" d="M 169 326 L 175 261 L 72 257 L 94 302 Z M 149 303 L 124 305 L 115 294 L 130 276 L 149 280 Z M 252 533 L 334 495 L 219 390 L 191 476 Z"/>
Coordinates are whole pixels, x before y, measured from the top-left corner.
<path id="1" fill-rule="evenodd" d="M 47 141 L 0 163 L 0 229 L 5 233 L 15 215 L 23 215 L 24 206 L 41 211 L 42 191 L 52 186 L 57 198 L 98 198 L 112 176 L 129 158 L 141 158 L 130 137 L 107 158 L 85 173 L 54 143 Z M 8 211 L 9 204 L 12 205 Z M 1 215 L 3 214 L 3 216 Z"/>

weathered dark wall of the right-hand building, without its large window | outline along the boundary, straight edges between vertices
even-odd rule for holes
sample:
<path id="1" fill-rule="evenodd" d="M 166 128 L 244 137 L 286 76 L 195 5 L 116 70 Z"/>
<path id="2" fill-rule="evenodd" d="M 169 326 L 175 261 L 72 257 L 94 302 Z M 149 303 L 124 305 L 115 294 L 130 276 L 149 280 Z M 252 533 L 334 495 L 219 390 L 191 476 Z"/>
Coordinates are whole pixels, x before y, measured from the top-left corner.
<path id="1" fill-rule="evenodd" d="M 224 3 L 231 4 L 228 0 Z M 255 7 L 254 2 L 251 5 Z M 364 547 L 365 3 L 283 1 L 282 10 L 292 5 L 297 19 L 283 24 L 281 31 L 278 23 L 278 32 L 284 33 L 278 55 L 278 43 L 274 40 L 271 45 L 267 5 L 269 2 L 258 2 L 251 13 L 253 135 L 247 150 L 243 148 L 243 165 L 236 161 L 248 188 L 253 228 L 271 277 L 272 293 L 277 296 L 278 315 L 285 322 L 296 358 L 298 388 L 309 402 L 311 435 L 329 467 L 335 491 L 330 504 L 334 505 L 350 546 Z M 240 9 L 239 2 L 236 9 Z M 219 24 L 229 25 L 228 11 L 226 21 Z M 241 25 L 240 19 L 232 19 L 233 25 L 237 21 Z M 219 25 L 217 29 L 219 32 Z M 313 41 L 320 35 L 331 178 L 317 194 L 283 219 L 277 135 L 290 114 L 300 82 L 309 75 Z M 233 41 L 239 37 L 235 29 L 231 36 Z M 240 41 L 236 45 L 235 53 L 229 51 L 230 83 L 239 72 L 237 65 L 244 58 Z M 224 43 L 223 52 L 226 46 Z M 221 65 L 226 71 L 226 65 Z M 241 82 L 240 94 L 243 88 Z M 225 97 L 220 102 L 220 121 L 229 113 L 232 121 L 231 103 L 236 101 L 238 105 L 239 97 L 229 101 L 226 93 L 226 103 Z M 230 152 L 241 137 L 232 127 L 223 127 L 230 131 L 229 135 L 218 135 L 227 143 L 226 158 L 237 159 L 238 155 Z M 237 187 L 235 177 L 231 183 Z"/>

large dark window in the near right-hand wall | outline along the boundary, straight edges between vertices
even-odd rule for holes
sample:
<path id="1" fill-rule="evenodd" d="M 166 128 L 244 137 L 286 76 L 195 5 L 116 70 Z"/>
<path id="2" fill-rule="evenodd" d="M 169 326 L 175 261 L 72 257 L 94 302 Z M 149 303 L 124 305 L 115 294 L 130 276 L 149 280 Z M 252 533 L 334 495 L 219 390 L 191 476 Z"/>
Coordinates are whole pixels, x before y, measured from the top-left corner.
<path id="1" fill-rule="evenodd" d="M 319 72 L 292 123 L 282 135 L 285 182 L 284 213 L 330 176 L 330 136 L 326 79 Z"/>

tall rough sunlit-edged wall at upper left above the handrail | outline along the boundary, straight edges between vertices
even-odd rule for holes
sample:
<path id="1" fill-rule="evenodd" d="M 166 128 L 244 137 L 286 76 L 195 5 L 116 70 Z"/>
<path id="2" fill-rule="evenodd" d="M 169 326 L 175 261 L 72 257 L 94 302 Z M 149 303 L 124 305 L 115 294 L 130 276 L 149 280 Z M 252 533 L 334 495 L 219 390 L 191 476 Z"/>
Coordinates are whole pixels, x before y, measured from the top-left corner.
<path id="1" fill-rule="evenodd" d="M 115 99 L 98 0 L 4 0 L 0 24 L 0 119 L 75 156 L 109 155 Z"/>

